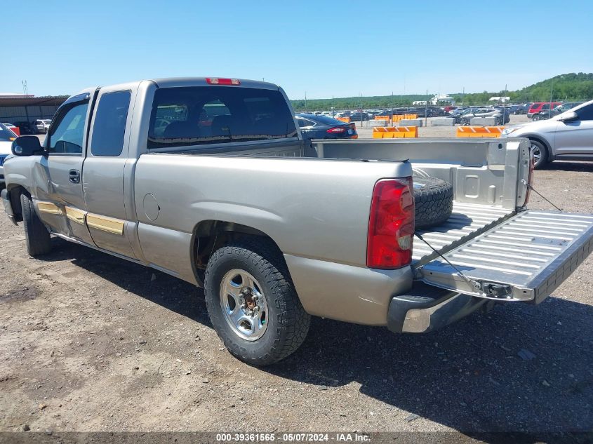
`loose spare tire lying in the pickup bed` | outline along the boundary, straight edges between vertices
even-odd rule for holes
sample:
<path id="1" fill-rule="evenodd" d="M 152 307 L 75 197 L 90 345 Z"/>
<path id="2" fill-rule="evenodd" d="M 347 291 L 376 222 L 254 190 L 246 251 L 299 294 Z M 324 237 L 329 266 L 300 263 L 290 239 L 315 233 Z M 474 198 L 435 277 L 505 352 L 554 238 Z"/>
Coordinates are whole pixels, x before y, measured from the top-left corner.
<path id="1" fill-rule="evenodd" d="M 453 212 L 453 186 L 437 177 L 414 177 L 415 227 L 442 224 Z"/>

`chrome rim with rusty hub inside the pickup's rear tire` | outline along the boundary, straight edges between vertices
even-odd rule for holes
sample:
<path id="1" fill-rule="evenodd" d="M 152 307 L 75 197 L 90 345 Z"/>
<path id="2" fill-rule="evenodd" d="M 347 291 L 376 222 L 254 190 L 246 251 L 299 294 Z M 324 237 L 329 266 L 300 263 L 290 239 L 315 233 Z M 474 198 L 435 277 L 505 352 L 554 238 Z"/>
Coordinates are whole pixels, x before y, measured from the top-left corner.
<path id="1" fill-rule="evenodd" d="M 230 328 L 257 341 L 267 328 L 267 300 L 261 285 L 245 270 L 232 269 L 220 282 L 220 307 Z"/>

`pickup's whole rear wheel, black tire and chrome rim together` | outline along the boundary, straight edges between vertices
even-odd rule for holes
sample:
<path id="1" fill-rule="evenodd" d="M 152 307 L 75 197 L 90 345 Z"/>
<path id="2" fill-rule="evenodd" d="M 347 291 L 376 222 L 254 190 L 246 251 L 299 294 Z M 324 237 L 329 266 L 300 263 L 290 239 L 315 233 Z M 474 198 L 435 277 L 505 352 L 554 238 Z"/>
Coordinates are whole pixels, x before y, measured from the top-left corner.
<path id="1" fill-rule="evenodd" d="M 310 316 L 274 245 L 248 240 L 215 251 L 204 289 L 214 329 L 241 361 L 276 363 L 307 337 Z"/>

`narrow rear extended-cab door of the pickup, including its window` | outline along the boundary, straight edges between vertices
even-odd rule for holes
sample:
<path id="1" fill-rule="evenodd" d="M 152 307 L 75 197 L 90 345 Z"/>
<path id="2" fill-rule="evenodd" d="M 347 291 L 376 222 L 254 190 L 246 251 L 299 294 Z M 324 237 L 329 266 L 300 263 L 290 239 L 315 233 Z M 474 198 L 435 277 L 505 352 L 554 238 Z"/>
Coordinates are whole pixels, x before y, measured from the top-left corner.
<path id="1" fill-rule="evenodd" d="M 95 245 L 132 258 L 135 222 L 126 216 L 124 167 L 137 88 L 125 84 L 99 90 L 82 175 L 86 223 Z"/>

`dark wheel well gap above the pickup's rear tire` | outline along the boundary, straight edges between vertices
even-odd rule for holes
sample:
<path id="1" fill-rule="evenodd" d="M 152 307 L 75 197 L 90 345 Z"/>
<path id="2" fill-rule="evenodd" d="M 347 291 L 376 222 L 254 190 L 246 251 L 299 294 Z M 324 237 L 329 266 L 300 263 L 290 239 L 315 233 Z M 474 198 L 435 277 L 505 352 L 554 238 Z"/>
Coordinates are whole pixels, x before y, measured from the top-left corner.
<path id="1" fill-rule="evenodd" d="M 196 275 L 203 281 L 204 270 L 211 255 L 219 248 L 246 237 L 258 238 L 273 245 L 281 253 L 278 244 L 271 237 L 248 225 L 223 220 L 203 220 L 197 224 L 192 248 L 192 266 Z"/>

